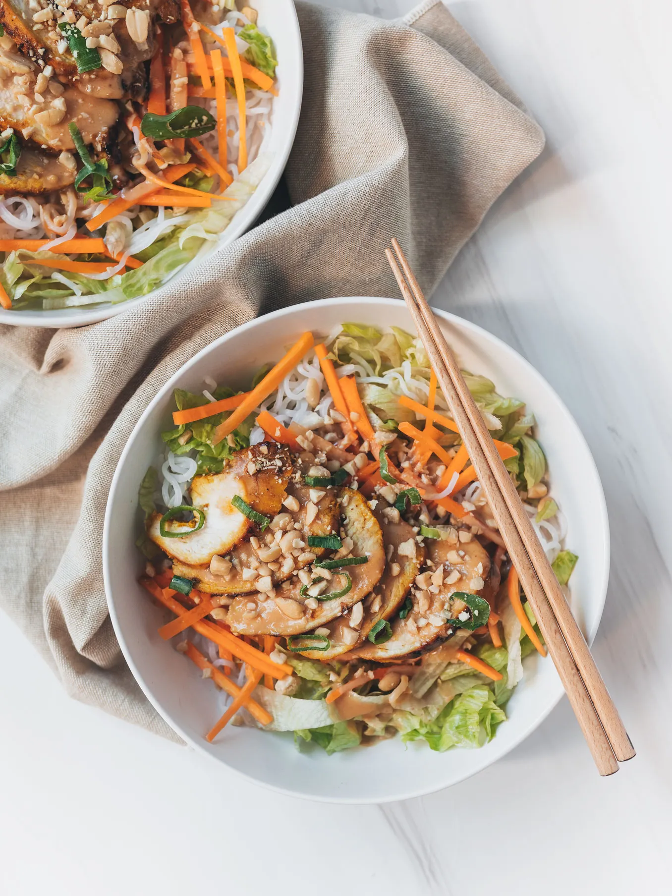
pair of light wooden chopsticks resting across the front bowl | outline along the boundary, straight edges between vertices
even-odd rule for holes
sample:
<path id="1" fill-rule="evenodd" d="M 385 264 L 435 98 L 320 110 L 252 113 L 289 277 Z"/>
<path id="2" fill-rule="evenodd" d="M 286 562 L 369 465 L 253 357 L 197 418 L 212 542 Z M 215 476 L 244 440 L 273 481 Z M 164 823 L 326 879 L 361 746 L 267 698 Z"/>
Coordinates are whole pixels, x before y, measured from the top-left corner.
<path id="1" fill-rule="evenodd" d="M 452 408 L 453 418 L 460 429 L 470 461 L 537 617 L 574 714 L 590 746 L 599 773 L 612 774 L 618 770 L 617 761 L 623 762 L 633 757 L 633 745 L 564 599 L 555 573 L 531 527 L 521 499 L 495 450 L 452 350 L 426 303 L 401 247 L 396 240 L 392 240 L 392 246 L 399 256 L 408 283 L 390 249 L 386 250 L 388 261 L 416 323 L 418 335 L 432 361 L 445 398 Z"/>

